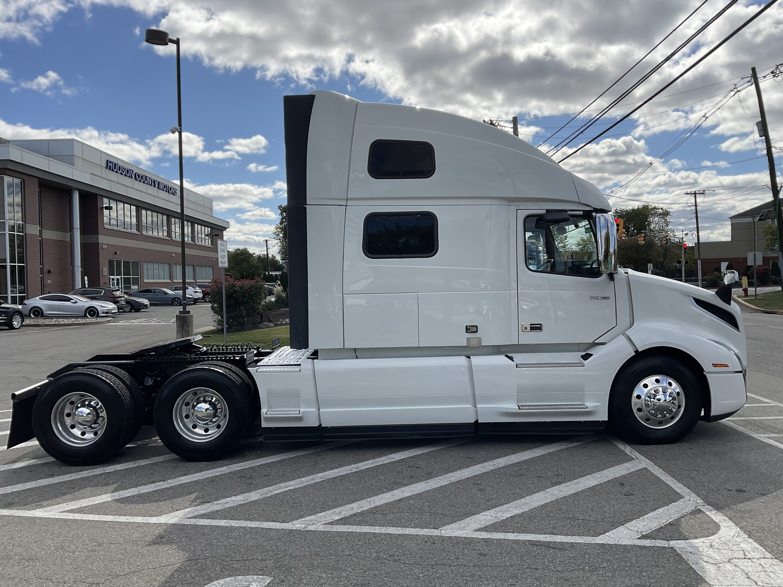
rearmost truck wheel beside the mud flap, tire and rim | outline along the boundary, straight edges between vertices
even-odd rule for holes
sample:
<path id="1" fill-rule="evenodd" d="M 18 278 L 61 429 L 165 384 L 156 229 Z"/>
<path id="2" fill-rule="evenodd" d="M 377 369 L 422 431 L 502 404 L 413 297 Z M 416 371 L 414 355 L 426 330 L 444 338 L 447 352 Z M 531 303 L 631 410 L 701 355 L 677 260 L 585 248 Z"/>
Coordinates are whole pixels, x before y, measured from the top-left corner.
<path id="1" fill-rule="evenodd" d="M 35 398 L 33 430 L 49 455 L 67 465 L 96 465 L 124 446 L 133 419 L 131 394 L 117 377 L 77 369 Z"/>

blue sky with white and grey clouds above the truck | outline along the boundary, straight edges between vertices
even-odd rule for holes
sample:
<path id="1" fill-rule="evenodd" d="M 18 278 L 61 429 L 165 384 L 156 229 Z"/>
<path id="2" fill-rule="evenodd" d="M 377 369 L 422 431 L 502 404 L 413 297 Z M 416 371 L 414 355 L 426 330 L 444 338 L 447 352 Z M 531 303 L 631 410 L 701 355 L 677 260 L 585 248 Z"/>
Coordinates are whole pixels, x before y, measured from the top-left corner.
<path id="1" fill-rule="evenodd" d="M 73 135 L 176 179 L 168 135 L 176 124 L 174 47 L 143 42 L 146 27 L 166 28 L 182 37 L 183 128 L 192 133 L 186 179 L 232 221 L 229 246 L 262 250 L 285 201 L 283 95 L 319 88 L 474 118 L 517 114 L 524 119 L 522 138 L 537 144 L 697 2 L 630 2 L 634 9 L 626 11 L 617 8 L 629 2 L 606 0 L 597 2 L 603 20 L 580 10 L 579 0 L 556 7 L 539 0 L 408 4 L 9 0 L 0 15 L 0 135 Z M 625 102 L 659 88 L 757 8 L 740 2 Z M 570 22 L 555 23 L 552 16 L 562 13 Z M 702 13 L 672 42 L 710 16 L 710 6 Z M 702 229 L 706 239 L 726 237 L 729 215 L 770 198 L 763 188 L 769 178 L 760 139 L 752 135 L 758 117 L 752 88 L 714 113 L 709 107 L 742 84 L 751 65 L 767 71 L 783 61 L 783 10 L 764 18 L 763 27 L 739 34 L 634 115 L 642 117 L 622 123 L 564 167 L 611 193 L 615 207 L 666 205 L 678 230 L 695 228 L 683 192 L 716 189 L 700 205 Z M 629 85 L 635 72 L 615 89 Z M 774 136 L 783 124 L 783 85 L 776 81 L 781 78 L 763 85 Z M 710 116 L 695 135 L 644 170 L 705 113 Z M 731 163 L 742 160 L 748 161 Z M 720 165 L 706 167 L 713 164 Z M 682 171 L 691 167 L 705 168 Z M 632 177 L 623 174 L 637 170 L 646 173 L 619 189 Z"/>

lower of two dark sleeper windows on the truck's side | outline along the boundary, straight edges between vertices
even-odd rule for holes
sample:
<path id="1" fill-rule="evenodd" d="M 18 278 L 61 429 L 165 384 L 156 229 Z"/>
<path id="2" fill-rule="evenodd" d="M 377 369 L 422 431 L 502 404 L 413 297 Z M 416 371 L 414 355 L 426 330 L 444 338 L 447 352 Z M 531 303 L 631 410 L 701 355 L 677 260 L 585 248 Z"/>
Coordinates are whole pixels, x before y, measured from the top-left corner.
<path id="1" fill-rule="evenodd" d="M 376 212 L 364 219 L 367 257 L 432 257 L 438 252 L 438 218 L 431 212 Z"/>

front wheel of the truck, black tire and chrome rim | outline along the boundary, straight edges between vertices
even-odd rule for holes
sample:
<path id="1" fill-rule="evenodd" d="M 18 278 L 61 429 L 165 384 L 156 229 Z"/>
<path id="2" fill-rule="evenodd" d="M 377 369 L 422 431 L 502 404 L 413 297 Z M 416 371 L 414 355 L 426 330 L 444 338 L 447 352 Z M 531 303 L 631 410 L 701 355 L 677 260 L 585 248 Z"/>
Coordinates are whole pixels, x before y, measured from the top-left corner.
<path id="1" fill-rule="evenodd" d="M 615 377 L 609 425 L 623 440 L 641 445 L 677 442 L 702 414 L 702 386 L 676 359 L 641 358 Z"/>

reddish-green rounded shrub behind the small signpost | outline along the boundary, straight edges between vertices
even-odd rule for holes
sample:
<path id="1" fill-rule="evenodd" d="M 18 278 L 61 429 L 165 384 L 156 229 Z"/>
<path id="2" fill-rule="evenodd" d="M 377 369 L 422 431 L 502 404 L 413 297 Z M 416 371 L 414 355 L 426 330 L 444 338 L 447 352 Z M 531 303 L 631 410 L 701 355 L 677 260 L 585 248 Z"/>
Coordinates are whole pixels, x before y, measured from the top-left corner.
<path id="1" fill-rule="evenodd" d="M 210 289 L 210 305 L 215 326 L 223 327 L 223 290 L 220 279 L 213 279 Z M 234 279 L 226 277 L 226 326 L 229 329 L 251 328 L 262 320 L 262 304 L 266 298 L 266 286 L 262 279 Z"/>

